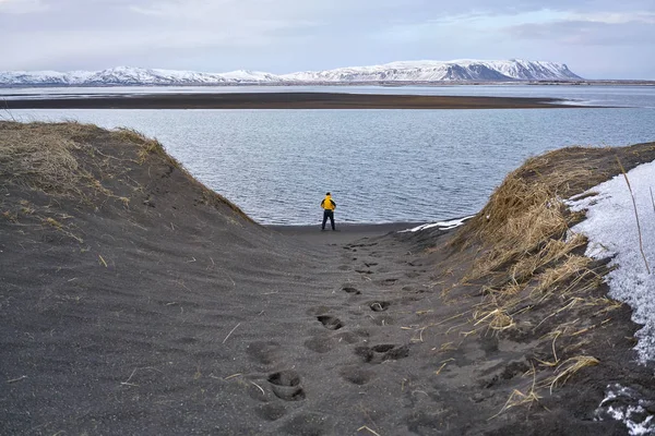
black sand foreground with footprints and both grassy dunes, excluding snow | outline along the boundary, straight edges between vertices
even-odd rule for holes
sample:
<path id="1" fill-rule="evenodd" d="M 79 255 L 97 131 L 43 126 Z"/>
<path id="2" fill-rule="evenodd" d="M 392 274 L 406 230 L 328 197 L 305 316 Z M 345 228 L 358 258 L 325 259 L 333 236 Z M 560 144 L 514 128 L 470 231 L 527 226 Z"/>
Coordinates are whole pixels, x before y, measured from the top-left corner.
<path id="1" fill-rule="evenodd" d="M 533 159 L 457 230 L 321 232 L 253 222 L 133 132 L 0 122 L 0 434 L 627 434 L 595 410 L 609 383 L 654 398 L 630 311 L 603 263 L 544 284 L 582 217 L 499 237 L 561 211 L 522 190 L 617 157 L 655 143 Z"/>

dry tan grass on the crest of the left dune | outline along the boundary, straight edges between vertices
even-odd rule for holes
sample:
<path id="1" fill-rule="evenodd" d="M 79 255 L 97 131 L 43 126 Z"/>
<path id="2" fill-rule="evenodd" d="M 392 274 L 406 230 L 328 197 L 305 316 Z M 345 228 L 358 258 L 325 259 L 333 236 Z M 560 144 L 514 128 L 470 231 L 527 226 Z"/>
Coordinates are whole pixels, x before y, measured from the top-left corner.
<path id="1" fill-rule="evenodd" d="M 93 145 L 98 141 L 135 148 L 120 157 L 108 156 Z M 0 180 L 2 183 L 41 191 L 96 204 L 94 198 L 115 198 L 128 207 L 130 198 L 118 196 L 103 184 L 117 179 L 133 165 L 144 166 L 150 158 L 163 159 L 200 189 L 201 202 L 227 205 L 241 218 L 252 221 L 238 206 L 196 181 L 189 171 L 166 153 L 164 146 L 132 129 L 106 131 L 74 121 L 61 123 L 0 121 Z M 156 160 L 155 160 L 156 161 Z M 154 161 L 153 161 L 154 162 Z M 139 190 L 142 186 L 131 186 Z M 234 222 L 237 222 L 236 220 Z"/>

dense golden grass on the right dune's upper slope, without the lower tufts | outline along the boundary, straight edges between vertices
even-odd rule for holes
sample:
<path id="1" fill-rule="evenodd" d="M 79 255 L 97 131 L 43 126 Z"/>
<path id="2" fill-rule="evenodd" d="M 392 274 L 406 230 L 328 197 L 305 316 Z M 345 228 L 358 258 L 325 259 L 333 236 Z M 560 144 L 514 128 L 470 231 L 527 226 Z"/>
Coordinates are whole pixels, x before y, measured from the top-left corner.
<path id="1" fill-rule="evenodd" d="M 562 201 L 573 183 L 599 178 L 576 159 L 561 159 L 585 152 L 577 147 L 528 159 L 455 235 L 455 247 L 479 246 L 464 278 L 483 280 L 486 299 L 474 318 L 476 325 L 488 322 L 495 330 L 510 328 L 517 307 L 561 295 L 582 282 L 597 284 L 588 284 L 590 278 L 602 276 L 590 269 L 592 261 L 573 254 L 586 244 L 583 235 L 570 232 L 581 216 L 570 213 Z M 523 291 L 528 287 L 532 294 L 526 296 Z"/>

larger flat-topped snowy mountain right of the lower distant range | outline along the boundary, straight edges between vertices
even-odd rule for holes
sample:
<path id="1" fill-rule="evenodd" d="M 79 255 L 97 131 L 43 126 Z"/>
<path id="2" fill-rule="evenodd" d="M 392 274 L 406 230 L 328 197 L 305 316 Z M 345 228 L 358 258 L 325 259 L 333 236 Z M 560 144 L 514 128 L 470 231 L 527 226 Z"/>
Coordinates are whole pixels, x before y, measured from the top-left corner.
<path id="1" fill-rule="evenodd" d="M 412 61 L 383 65 L 308 71 L 282 76 L 296 82 L 442 82 L 580 80 L 563 63 L 524 61 Z"/>

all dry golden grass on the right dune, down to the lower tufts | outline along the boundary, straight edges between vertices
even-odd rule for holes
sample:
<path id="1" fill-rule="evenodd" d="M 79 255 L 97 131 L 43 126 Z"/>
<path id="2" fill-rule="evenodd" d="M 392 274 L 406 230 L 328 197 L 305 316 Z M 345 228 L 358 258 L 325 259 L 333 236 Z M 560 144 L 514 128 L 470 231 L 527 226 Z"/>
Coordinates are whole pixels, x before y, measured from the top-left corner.
<path id="1" fill-rule="evenodd" d="M 537 359 L 540 365 L 534 371 L 550 371 L 540 377 L 547 383 L 533 385 L 527 393 L 515 390 L 503 411 L 532 404 L 539 398 L 537 389 L 552 391 L 582 368 L 598 364 L 591 355 L 571 354 L 588 343 L 582 338 L 585 334 L 610 322 L 604 315 L 620 304 L 593 295 L 609 269 L 581 254 L 586 238 L 570 228 L 584 215 L 571 213 L 563 199 L 607 180 L 609 174 L 596 167 L 600 159 L 614 159 L 607 152 L 575 147 L 528 159 L 451 243 L 451 249 L 476 253 L 462 280 L 481 290 L 481 302 L 469 319 L 476 331 L 532 331 L 539 350 L 546 349 L 538 355 L 547 358 Z"/>

